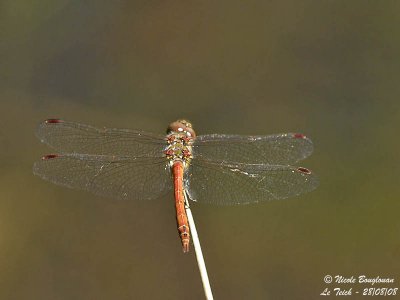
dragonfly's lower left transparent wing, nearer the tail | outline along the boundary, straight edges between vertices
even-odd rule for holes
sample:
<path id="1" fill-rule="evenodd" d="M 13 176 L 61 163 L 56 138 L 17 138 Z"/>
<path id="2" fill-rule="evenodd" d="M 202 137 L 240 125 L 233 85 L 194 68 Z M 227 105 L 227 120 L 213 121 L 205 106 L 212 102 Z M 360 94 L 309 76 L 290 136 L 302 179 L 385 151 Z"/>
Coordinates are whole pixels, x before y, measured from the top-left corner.
<path id="1" fill-rule="evenodd" d="M 47 155 L 33 166 L 55 184 L 119 199 L 155 199 L 172 188 L 165 158 L 108 155 Z"/>

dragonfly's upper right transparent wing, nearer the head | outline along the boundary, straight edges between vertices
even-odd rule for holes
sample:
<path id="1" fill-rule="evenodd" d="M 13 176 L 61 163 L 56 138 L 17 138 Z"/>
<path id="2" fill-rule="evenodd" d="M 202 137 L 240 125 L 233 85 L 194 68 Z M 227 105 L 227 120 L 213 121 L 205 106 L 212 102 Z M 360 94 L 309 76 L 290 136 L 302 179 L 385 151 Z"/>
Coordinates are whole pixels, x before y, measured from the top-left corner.
<path id="1" fill-rule="evenodd" d="M 200 135 L 193 144 L 195 157 L 226 163 L 293 164 L 309 156 L 312 151 L 311 140 L 299 133 L 267 136 Z"/>

